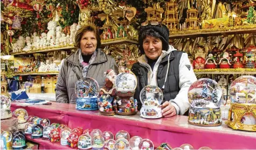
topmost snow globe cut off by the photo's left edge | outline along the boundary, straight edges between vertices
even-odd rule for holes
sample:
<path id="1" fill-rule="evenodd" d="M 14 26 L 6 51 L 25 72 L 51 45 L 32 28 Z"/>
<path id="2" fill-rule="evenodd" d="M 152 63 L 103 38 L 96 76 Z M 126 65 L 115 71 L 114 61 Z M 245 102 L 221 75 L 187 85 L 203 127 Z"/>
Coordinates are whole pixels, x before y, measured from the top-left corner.
<path id="1" fill-rule="evenodd" d="M 11 118 L 11 99 L 1 95 L 1 119 Z"/>

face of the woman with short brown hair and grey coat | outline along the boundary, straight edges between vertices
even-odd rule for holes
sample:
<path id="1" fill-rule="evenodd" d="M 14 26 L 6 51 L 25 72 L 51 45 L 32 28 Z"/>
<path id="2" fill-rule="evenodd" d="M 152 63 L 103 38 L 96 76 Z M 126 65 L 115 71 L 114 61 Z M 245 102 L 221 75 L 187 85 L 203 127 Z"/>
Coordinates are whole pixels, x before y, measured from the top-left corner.
<path id="1" fill-rule="evenodd" d="M 97 39 L 94 32 L 87 31 L 83 33 L 80 40 L 80 48 L 84 55 L 93 54 L 97 47 Z"/>

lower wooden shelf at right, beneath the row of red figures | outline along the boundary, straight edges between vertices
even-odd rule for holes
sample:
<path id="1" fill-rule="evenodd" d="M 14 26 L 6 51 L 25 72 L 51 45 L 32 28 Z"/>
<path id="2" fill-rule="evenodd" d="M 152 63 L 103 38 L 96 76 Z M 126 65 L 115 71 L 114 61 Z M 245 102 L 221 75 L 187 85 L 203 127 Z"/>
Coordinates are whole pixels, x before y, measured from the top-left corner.
<path id="1" fill-rule="evenodd" d="M 230 68 L 230 69 L 194 69 L 196 75 L 199 74 L 256 74 L 255 68 Z"/>

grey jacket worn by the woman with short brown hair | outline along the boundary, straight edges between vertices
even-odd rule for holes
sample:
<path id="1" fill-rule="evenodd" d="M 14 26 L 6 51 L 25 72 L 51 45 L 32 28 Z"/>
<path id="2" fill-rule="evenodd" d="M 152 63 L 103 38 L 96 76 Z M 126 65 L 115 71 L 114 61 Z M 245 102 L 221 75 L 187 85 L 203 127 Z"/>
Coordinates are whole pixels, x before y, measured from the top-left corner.
<path id="1" fill-rule="evenodd" d="M 104 85 L 104 72 L 113 69 L 118 73 L 115 59 L 106 55 L 101 49 L 97 49 L 96 58 L 90 64 L 87 76 L 93 77 L 99 84 L 99 88 Z M 75 84 L 82 78 L 82 66 L 79 63 L 79 51 L 70 55 L 63 60 L 58 82 L 56 83 L 56 102 L 59 103 L 76 103 Z"/>

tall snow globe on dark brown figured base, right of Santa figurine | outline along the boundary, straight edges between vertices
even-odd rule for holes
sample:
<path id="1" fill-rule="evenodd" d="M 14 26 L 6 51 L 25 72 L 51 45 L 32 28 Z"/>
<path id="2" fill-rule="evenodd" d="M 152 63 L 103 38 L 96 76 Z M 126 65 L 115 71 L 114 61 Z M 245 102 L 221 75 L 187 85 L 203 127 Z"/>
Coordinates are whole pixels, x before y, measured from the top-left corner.
<path id="1" fill-rule="evenodd" d="M 137 77 L 132 72 L 120 73 L 116 77 L 116 95 L 113 102 L 118 115 L 133 115 L 137 113 L 137 100 L 133 98 L 137 87 Z"/>

